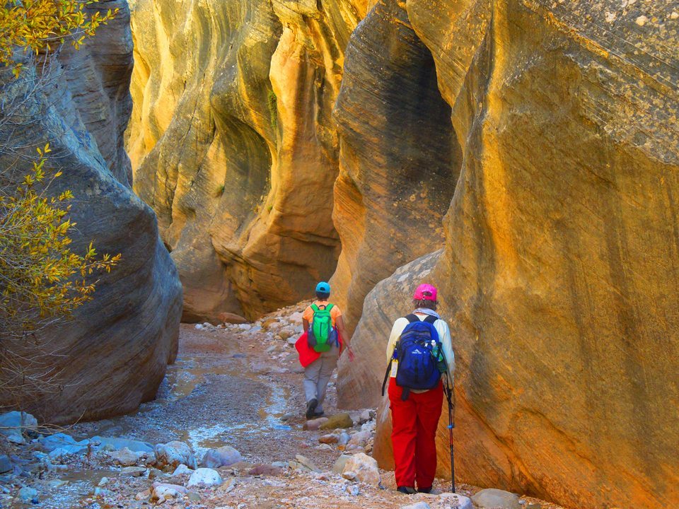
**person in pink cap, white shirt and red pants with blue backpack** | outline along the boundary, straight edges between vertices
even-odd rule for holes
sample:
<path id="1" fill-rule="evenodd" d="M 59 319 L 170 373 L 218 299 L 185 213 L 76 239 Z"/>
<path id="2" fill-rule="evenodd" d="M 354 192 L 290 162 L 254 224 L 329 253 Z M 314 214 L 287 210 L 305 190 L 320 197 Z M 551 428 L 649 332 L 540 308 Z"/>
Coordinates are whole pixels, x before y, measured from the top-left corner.
<path id="1" fill-rule="evenodd" d="M 436 475 L 436 428 L 443 405 L 443 382 L 452 387 L 455 356 L 448 324 L 436 312 L 436 288 L 417 287 L 414 311 L 394 323 L 387 346 L 385 381 L 396 464 L 397 490 L 431 492 Z"/>

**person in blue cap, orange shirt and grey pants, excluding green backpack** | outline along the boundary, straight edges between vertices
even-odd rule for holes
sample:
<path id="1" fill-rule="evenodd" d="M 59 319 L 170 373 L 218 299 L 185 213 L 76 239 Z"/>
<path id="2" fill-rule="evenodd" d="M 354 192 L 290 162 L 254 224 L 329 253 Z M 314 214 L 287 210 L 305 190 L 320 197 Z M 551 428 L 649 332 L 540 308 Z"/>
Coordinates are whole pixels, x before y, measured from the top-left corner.
<path id="1" fill-rule="evenodd" d="M 302 317 L 302 324 L 304 331 L 307 332 L 309 324 L 313 321 L 314 309 L 316 308 L 330 308 L 330 317 L 332 318 L 332 327 L 337 328 L 342 338 L 342 344 L 339 341 L 332 341 L 332 347 L 329 351 L 320 353 L 320 357 L 304 368 L 304 395 L 306 397 L 306 418 L 313 419 L 324 414 L 323 400 L 325 399 L 325 390 L 327 389 L 327 382 L 332 376 L 332 370 L 337 366 L 337 358 L 346 350 L 349 354 L 349 361 L 354 360 L 354 352 L 349 346 L 349 335 L 344 329 L 344 321 L 342 320 L 342 311 L 336 305 L 330 304 L 330 285 L 324 281 L 316 285 L 316 298 L 313 305 L 308 306 L 304 310 Z M 327 316 L 327 315 L 326 315 Z"/>

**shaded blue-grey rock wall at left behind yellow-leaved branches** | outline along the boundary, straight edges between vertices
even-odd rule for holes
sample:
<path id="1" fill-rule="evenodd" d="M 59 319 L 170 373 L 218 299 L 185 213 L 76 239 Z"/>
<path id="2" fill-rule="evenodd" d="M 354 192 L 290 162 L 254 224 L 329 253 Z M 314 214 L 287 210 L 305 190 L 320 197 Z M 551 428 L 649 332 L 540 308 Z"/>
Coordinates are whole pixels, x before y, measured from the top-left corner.
<path id="1" fill-rule="evenodd" d="M 63 171 L 52 192 L 71 189 L 75 196 L 73 249 L 83 252 L 93 240 L 100 253 L 122 253 L 119 266 L 101 276 L 94 300 L 45 333 L 45 350 L 59 354 L 48 365 L 62 391 L 19 403 L 52 423 L 122 414 L 153 399 L 178 347 L 178 276 L 153 211 L 129 187 L 122 139 L 132 108 L 129 9 L 123 0 L 98 5 L 116 7 L 119 16 L 81 51 L 64 47 L 41 85 L 34 86 L 31 68 L 17 81 L 2 76 L 2 143 L 11 139 L 33 155 L 50 142 L 48 164 Z M 4 169 L 16 162 L 11 153 L 0 158 Z M 0 402 L 16 403 L 13 394 L 0 394 Z"/>

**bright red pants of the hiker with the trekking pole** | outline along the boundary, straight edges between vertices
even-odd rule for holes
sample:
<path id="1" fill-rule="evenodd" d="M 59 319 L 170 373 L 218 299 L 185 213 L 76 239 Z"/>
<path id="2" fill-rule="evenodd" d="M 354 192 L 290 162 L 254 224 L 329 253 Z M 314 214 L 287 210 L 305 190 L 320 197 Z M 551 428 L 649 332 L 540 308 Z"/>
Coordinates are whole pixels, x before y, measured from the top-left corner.
<path id="1" fill-rule="evenodd" d="M 436 476 L 436 428 L 443 405 L 443 383 L 427 392 L 410 392 L 402 401 L 402 387 L 389 380 L 391 443 L 396 464 L 396 486 L 431 488 Z"/>

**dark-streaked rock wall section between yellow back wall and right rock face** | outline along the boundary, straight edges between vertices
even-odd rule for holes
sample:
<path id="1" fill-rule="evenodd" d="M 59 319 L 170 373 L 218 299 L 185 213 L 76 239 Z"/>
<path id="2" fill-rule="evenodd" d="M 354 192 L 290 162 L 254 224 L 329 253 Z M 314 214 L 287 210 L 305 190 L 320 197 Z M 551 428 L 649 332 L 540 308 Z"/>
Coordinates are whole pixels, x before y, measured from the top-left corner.
<path id="1" fill-rule="evenodd" d="M 378 281 L 443 245 L 461 161 L 434 59 L 403 4 L 378 1 L 354 30 L 335 118 L 342 254 L 331 282 L 353 330 Z"/>

